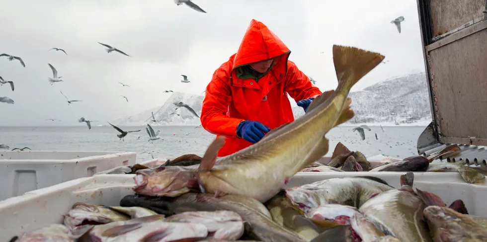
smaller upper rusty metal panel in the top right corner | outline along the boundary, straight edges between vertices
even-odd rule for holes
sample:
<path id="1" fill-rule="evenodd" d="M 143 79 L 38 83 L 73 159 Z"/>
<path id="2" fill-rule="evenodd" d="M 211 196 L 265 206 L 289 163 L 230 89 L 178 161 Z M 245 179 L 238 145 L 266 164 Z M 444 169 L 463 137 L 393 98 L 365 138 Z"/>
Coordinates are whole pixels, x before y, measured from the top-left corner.
<path id="1" fill-rule="evenodd" d="M 483 18 L 486 0 L 429 0 L 429 7 L 431 34 L 435 37 Z"/>

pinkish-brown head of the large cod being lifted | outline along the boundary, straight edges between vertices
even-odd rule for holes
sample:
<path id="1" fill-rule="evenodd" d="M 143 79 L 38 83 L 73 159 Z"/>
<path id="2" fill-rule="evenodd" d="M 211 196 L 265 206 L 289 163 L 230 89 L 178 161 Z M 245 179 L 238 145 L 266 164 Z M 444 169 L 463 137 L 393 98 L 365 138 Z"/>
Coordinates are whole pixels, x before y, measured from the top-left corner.
<path id="1" fill-rule="evenodd" d="M 135 192 L 148 196 L 177 197 L 190 191 L 195 169 L 183 166 L 162 166 L 137 170 Z"/>

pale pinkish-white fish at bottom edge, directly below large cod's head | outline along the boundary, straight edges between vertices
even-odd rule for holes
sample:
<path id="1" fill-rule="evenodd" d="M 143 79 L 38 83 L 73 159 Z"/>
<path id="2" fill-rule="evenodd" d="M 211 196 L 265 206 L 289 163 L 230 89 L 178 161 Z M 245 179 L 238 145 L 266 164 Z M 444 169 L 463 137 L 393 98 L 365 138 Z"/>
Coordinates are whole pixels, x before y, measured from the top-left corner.
<path id="1" fill-rule="evenodd" d="M 166 218 L 166 222 L 200 223 L 209 233 L 214 233 L 214 240 L 235 241 L 243 235 L 243 220 L 233 211 L 217 210 L 214 212 L 184 212 Z"/>

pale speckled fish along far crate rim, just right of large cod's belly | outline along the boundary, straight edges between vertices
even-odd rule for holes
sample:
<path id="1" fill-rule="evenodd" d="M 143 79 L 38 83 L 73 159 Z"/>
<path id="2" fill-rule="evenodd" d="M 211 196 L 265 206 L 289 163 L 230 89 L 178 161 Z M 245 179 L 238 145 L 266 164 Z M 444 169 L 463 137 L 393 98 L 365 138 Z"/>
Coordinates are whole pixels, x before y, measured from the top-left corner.
<path id="1" fill-rule="evenodd" d="M 372 195 L 392 190 L 394 187 L 368 177 L 331 178 L 286 188 L 286 196 L 293 205 L 307 213 L 324 204 L 341 204 L 360 207 Z"/>

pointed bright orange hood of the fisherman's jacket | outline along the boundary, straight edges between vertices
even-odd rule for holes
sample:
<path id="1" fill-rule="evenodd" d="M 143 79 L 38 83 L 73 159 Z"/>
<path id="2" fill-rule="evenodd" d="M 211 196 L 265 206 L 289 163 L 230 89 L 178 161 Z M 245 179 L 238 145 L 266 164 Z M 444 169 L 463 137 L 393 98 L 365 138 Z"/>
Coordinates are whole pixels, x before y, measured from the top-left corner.
<path id="1" fill-rule="evenodd" d="M 265 24 L 252 19 L 235 54 L 232 70 L 290 53 L 287 46 Z"/>

